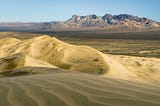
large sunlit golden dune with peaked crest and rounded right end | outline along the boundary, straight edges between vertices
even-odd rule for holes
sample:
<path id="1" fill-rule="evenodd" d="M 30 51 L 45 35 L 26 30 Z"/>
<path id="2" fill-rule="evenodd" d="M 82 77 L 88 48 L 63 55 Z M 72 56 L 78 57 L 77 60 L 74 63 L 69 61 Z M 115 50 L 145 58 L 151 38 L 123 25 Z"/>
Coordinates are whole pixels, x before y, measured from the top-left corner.
<path id="1" fill-rule="evenodd" d="M 4 39 L 1 39 L 1 41 L 3 40 Z M 13 39 L 10 40 L 13 41 Z M 87 46 L 67 44 L 47 35 L 17 41 L 18 43 L 6 46 L 5 48 L 5 43 L 3 43 L 3 46 L 0 48 L 0 57 L 7 59 L 10 58 L 10 56 L 15 56 L 15 64 L 23 63 L 21 61 L 25 60 L 25 65 L 28 66 L 46 65 L 46 67 L 48 67 L 53 65 L 67 70 L 92 74 L 103 74 L 109 69 L 102 54 Z M 42 61 L 44 61 L 43 64 Z M 1 70 L 5 71 L 3 63 L 1 63 L 1 66 Z"/>

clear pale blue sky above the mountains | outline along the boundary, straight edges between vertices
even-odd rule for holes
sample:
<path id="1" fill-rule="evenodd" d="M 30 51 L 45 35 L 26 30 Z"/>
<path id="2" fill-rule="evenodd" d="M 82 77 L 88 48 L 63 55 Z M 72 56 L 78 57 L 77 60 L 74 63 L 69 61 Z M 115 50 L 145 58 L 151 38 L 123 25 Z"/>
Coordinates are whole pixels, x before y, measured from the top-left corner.
<path id="1" fill-rule="evenodd" d="M 106 13 L 160 22 L 160 0 L 0 0 L 0 22 L 65 21 L 73 14 Z"/>

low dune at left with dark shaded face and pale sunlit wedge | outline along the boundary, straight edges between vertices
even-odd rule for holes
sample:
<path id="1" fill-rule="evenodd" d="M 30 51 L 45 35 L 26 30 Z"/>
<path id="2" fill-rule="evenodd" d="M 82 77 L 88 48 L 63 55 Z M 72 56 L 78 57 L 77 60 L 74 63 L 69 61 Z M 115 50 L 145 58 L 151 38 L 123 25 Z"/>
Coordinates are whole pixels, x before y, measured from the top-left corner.
<path id="1" fill-rule="evenodd" d="M 20 53 L 0 59 L 0 73 L 26 66 L 56 68 L 45 61 L 33 59 L 32 57 Z"/>

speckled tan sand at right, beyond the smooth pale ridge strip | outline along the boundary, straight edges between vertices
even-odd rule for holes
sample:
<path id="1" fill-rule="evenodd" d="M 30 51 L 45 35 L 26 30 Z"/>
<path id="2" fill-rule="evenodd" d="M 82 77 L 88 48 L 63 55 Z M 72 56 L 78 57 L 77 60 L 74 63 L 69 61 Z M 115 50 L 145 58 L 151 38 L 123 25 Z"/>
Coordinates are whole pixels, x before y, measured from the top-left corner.
<path id="1" fill-rule="evenodd" d="M 160 59 L 121 55 L 107 55 L 145 82 L 160 82 Z"/>

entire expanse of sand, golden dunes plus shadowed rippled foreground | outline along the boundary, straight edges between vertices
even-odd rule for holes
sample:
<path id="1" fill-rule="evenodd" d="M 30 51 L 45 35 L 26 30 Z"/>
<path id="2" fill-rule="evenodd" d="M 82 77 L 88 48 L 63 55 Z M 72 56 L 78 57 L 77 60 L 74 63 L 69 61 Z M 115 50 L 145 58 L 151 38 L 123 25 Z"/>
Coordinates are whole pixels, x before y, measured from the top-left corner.
<path id="1" fill-rule="evenodd" d="M 0 106 L 160 106 L 160 59 L 7 34 L 0 39 Z"/>

